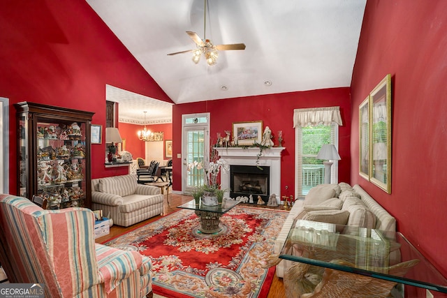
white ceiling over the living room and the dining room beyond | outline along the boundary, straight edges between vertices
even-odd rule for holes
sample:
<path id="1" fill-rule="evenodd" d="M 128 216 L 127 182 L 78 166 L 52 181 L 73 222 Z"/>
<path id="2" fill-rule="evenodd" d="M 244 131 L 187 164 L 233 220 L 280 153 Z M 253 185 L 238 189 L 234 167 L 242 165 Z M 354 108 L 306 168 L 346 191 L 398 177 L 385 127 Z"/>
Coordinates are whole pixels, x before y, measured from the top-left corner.
<path id="1" fill-rule="evenodd" d="M 204 0 L 87 2 L 175 103 L 349 87 L 366 4 L 208 0 L 206 38 L 247 47 L 219 51 L 217 65 L 207 66 L 205 59 L 194 64 L 191 53 L 167 55 L 196 48 L 186 31 L 204 37 Z M 131 105 L 142 118 L 144 100 L 136 97 Z M 126 100 L 108 99 L 122 102 L 121 118 Z"/>

